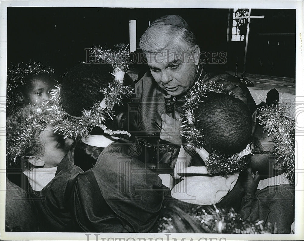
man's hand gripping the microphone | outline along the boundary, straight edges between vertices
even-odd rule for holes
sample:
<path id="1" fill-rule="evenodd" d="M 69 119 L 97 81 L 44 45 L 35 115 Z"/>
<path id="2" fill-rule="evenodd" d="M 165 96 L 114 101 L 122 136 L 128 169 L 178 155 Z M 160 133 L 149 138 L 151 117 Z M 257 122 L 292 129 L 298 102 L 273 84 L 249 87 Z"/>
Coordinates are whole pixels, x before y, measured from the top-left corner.
<path id="1" fill-rule="evenodd" d="M 175 112 L 173 119 L 167 114 L 161 115 L 160 138 L 173 144 L 181 144 L 181 117 Z"/>

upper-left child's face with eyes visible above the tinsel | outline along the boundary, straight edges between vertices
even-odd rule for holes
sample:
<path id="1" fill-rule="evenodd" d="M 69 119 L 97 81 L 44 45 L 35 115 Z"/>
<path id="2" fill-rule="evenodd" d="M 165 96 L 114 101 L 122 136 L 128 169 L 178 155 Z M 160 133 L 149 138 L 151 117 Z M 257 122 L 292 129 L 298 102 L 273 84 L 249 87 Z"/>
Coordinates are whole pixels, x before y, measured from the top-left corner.
<path id="1" fill-rule="evenodd" d="M 31 82 L 32 88 L 26 91 L 26 102 L 36 104 L 51 97 L 50 91 L 54 89 L 54 81 L 46 77 L 34 77 Z"/>

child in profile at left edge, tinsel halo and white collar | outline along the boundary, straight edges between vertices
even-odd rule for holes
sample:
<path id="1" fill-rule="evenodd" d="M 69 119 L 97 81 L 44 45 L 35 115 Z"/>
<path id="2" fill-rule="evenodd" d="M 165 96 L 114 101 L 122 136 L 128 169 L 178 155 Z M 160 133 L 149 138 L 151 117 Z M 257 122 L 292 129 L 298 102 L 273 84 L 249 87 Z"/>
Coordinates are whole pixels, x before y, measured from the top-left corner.
<path id="1" fill-rule="evenodd" d="M 61 138 L 60 141 L 60 136 L 47 128 L 46 108 L 45 102 L 26 105 L 7 119 L 7 165 L 12 167 L 11 170 L 26 169 L 25 174 L 29 177 L 28 185 L 21 178 L 23 189 L 6 180 L 6 222 L 12 230 L 38 230 L 37 211 L 26 191 L 29 185 L 33 190 L 41 190 L 55 174 L 56 163 L 69 150 L 70 145 L 64 145 L 67 140 Z M 36 169 L 34 166 L 46 168 Z"/>

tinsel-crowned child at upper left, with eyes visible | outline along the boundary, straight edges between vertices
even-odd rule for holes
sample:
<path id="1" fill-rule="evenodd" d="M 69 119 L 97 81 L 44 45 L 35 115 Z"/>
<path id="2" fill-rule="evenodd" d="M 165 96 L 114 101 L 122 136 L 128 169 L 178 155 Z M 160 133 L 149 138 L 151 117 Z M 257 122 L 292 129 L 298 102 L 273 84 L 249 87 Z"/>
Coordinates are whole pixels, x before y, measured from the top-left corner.
<path id="1" fill-rule="evenodd" d="M 7 72 L 7 100 L 37 104 L 48 100 L 54 89 L 54 71 L 40 62 L 12 67 Z"/>

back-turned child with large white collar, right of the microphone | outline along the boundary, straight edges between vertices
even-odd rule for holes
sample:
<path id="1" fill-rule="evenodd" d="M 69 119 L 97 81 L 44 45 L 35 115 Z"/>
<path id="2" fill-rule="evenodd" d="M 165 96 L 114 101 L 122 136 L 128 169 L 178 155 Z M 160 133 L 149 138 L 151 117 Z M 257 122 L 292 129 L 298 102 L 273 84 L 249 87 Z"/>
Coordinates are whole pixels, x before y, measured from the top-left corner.
<path id="1" fill-rule="evenodd" d="M 180 182 L 171 195 L 192 204 L 237 209 L 242 197 L 237 180 L 246 167 L 245 155 L 251 151 L 251 115 L 247 106 L 232 95 L 204 95 L 201 101 L 193 102 L 198 103 L 196 108 L 188 108 L 187 103 L 185 106 L 184 146 L 197 153 L 190 157 L 180 152 L 174 169 L 174 177 Z M 187 167 L 190 159 L 191 166 Z"/>

